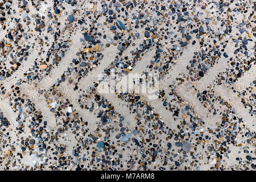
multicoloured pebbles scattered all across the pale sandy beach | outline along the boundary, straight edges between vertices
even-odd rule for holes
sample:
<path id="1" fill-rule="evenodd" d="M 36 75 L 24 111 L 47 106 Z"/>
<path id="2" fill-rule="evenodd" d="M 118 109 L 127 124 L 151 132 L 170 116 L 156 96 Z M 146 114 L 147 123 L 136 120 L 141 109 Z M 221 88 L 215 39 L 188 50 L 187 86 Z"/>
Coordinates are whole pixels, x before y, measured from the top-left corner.
<path id="1" fill-rule="evenodd" d="M 249 0 L 0 0 L 0 169 L 255 169 L 256 78 L 234 86 L 256 72 L 255 9 Z M 139 93 L 99 93 L 113 69 L 175 79 L 156 93 L 158 107 Z M 214 92 L 220 85 L 249 121 Z"/>

